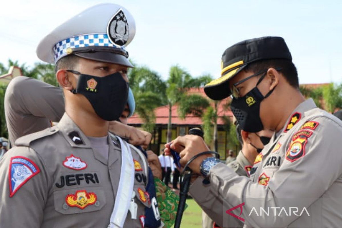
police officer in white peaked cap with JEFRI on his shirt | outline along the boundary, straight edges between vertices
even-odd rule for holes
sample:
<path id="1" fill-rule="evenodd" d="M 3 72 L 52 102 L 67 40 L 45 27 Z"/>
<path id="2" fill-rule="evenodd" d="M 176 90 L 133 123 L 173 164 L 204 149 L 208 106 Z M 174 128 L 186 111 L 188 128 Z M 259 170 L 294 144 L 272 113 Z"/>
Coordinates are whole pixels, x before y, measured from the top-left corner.
<path id="1" fill-rule="evenodd" d="M 127 104 L 131 14 L 93 6 L 54 29 L 37 55 L 56 64 L 65 113 L 0 161 L 3 227 L 143 227 L 146 158 L 108 134 Z"/>

